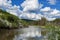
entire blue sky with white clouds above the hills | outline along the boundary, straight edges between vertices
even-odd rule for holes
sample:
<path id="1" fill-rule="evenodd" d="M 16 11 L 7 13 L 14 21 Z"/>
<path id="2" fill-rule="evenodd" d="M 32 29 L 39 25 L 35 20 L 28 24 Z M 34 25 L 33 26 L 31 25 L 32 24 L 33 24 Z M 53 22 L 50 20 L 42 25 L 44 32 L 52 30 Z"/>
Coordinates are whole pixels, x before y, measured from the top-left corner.
<path id="1" fill-rule="evenodd" d="M 60 18 L 60 0 L 0 0 L 0 9 L 31 20 Z"/>

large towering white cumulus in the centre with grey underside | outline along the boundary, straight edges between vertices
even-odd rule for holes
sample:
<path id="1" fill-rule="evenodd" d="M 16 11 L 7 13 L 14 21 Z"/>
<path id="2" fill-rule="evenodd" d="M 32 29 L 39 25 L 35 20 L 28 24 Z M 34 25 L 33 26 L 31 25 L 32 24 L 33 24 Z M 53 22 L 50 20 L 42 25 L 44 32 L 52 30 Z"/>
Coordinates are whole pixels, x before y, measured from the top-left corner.
<path id="1" fill-rule="evenodd" d="M 23 8 L 23 13 L 20 15 L 21 18 L 26 18 L 26 19 L 31 19 L 31 20 L 41 19 L 42 15 L 41 14 L 37 14 L 36 11 L 39 8 L 41 8 L 43 5 L 39 4 L 38 0 L 25 0 L 21 4 L 21 6 Z"/>

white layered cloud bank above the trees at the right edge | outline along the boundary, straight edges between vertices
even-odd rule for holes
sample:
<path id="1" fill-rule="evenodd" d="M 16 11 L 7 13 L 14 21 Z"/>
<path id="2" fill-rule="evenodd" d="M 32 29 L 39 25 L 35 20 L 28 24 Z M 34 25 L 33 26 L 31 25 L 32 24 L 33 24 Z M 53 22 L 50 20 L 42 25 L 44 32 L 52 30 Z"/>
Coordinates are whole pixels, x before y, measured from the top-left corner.
<path id="1" fill-rule="evenodd" d="M 56 17 L 60 17 L 60 11 L 57 9 L 51 9 L 50 7 L 45 7 L 40 10 L 47 20 L 55 20 Z"/>

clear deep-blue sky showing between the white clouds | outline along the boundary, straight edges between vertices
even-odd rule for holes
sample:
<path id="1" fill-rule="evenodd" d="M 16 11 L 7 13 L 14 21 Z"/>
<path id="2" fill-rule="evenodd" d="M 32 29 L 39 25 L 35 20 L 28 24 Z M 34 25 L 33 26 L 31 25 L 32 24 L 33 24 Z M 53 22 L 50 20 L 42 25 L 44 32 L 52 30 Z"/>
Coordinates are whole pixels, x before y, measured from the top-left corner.
<path id="1" fill-rule="evenodd" d="M 21 5 L 25 0 L 12 0 L 12 5 Z M 60 0 L 56 0 L 56 4 L 49 4 L 47 0 L 38 0 L 39 3 L 42 3 L 43 7 L 51 7 L 53 9 L 60 10 Z"/>

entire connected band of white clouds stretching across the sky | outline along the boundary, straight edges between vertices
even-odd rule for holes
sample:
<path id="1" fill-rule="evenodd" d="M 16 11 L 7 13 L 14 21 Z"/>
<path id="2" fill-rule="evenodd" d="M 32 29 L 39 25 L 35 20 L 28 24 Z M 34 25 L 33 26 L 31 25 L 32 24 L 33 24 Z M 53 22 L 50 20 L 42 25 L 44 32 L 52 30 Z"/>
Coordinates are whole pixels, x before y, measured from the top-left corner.
<path id="1" fill-rule="evenodd" d="M 51 1 L 52 0 L 50 0 L 49 3 L 55 4 L 55 2 Z M 39 4 L 38 0 L 25 0 L 21 4 L 23 10 L 20 10 L 20 6 L 13 6 L 11 0 L 0 0 L 0 9 L 5 9 L 7 12 L 19 18 L 38 20 L 45 17 L 48 21 L 52 21 L 55 20 L 56 17 L 60 17 L 59 10 L 51 9 L 50 7 L 42 8 L 42 6 L 43 4 Z"/>

